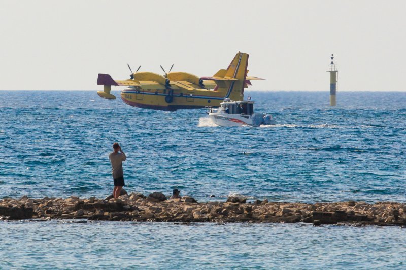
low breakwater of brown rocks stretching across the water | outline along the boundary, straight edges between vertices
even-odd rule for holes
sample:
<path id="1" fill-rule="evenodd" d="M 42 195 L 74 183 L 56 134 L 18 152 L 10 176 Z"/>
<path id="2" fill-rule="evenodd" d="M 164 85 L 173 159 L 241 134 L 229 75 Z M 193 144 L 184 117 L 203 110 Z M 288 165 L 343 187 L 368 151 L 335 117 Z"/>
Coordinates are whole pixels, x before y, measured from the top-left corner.
<path id="1" fill-rule="evenodd" d="M 406 204 L 395 202 L 283 203 L 229 197 L 227 202 L 198 203 L 192 197 L 170 199 L 124 194 L 118 200 L 90 197 L 0 200 L 0 219 L 88 219 L 161 222 L 305 222 L 314 225 L 406 225 Z"/>

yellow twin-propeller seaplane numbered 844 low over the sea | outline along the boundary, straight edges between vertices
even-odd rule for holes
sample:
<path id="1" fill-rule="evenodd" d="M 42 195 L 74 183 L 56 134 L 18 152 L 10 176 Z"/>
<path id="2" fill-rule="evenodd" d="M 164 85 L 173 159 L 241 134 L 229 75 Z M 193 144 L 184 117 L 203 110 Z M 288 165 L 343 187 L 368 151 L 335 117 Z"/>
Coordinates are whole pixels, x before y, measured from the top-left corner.
<path id="1" fill-rule="evenodd" d="M 130 68 L 130 66 L 128 65 Z M 141 66 L 140 66 L 141 67 Z M 103 85 L 103 91 L 97 94 L 105 99 L 116 99 L 111 94 L 112 86 L 126 86 L 120 95 L 128 105 L 138 108 L 176 111 L 178 109 L 197 109 L 207 106 L 219 106 L 225 98 L 244 99 L 244 88 L 252 80 L 264 80 L 248 77 L 248 54 L 237 53 L 227 69 L 220 69 L 209 77 L 199 77 L 187 72 L 171 72 L 165 75 L 153 72 L 132 72 L 130 79 L 114 80 L 108 74 L 98 74 L 97 85 Z"/>

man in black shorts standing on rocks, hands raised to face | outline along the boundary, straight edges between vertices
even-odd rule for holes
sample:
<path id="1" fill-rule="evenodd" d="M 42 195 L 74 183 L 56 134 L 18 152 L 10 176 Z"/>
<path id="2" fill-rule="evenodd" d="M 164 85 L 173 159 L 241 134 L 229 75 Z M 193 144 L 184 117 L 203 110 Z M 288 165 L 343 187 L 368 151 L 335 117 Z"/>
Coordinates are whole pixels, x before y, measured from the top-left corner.
<path id="1" fill-rule="evenodd" d="M 114 152 L 110 153 L 109 159 L 111 162 L 111 173 L 114 179 L 113 196 L 114 199 L 117 199 L 120 196 L 121 189 L 125 185 L 122 162 L 125 161 L 126 156 L 117 142 L 113 143 L 113 150 Z"/>

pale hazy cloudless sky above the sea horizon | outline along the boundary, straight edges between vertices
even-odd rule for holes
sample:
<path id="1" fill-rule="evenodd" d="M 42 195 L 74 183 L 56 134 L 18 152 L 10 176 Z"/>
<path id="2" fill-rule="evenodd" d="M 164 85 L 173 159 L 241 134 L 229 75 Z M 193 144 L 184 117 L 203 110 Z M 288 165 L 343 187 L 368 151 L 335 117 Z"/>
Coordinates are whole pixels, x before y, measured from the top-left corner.
<path id="1" fill-rule="evenodd" d="M 101 90 L 98 73 L 210 76 L 250 55 L 252 90 L 405 91 L 406 1 L 0 0 L 2 90 Z M 123 87 L 116 87 L 120 90 Z"/>

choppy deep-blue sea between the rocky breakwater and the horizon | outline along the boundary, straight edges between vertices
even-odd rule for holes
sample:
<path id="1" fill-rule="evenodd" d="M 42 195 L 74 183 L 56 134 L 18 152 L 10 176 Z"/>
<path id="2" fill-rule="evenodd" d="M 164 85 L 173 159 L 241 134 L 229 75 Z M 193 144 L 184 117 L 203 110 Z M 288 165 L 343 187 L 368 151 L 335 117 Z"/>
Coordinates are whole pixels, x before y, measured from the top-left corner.
<path id="1" fill-rule="evenodd" d="M 1 91 L 0 198 L 105 197 L 118 141 L 127 191 L 406 201 L 406 93 L 343 92 L 336 107 L 326 92 L 248 94 L 276 126 L 216 127 L 204 109 L 139 109 L 90 91 Z"/>

